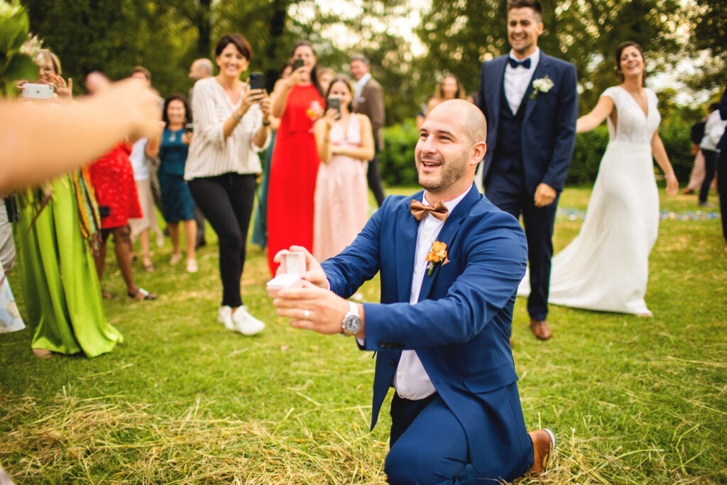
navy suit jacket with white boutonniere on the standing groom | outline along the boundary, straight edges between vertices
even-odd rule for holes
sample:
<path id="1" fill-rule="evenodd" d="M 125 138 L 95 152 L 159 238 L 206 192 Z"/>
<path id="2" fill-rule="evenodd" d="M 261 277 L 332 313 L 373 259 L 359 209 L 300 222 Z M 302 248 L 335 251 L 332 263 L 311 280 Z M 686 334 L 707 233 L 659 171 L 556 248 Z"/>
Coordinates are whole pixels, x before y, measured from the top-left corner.
<path id="1" fill-rule="evenodd" d="M 497 127 L 507 57 L 503 55 L 482 63 L 480 71 L 479 106 L 487 119 L 483 185 L 497 150 Z M 525 97 L 533 92 L 532 81 L 545 76 L 553 81 L 553 88 L 548 92 L 539 92 L 534 100 L 527 100 L 521 132 L 525 185 L 530 193 L 535 193 L 541 182 L 558 192 L 563 190 L 576 144 L 576 66 L 541 51 Z"/>

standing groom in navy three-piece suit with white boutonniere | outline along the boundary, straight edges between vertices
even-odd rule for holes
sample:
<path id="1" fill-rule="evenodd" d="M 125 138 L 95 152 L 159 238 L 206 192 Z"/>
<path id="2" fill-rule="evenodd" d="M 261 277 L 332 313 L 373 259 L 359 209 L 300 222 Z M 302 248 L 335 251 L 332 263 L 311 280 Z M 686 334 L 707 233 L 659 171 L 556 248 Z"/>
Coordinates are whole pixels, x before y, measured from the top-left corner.
<path id="1" fill-rule="evenodd" d="M 550 338 L 547 297 L 553 225 L 576 141 L 576 68 L 537 47 L 538 0 L 507 4 L 509 55 L 482 64 L 480 109 L 488 124 L 483 187 L 500 209 L 523 216 L 528 239 L 528 313 L 536 337 Z"/>

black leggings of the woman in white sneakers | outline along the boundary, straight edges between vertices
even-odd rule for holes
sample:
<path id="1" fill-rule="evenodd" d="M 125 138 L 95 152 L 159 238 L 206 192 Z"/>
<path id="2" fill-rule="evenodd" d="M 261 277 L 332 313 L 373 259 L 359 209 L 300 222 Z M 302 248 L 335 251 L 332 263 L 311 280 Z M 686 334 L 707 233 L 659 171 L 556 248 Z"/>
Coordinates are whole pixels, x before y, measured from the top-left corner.
<path id="1" fill-rule="evenodd" d="M 245 264 L 247 229 L 257 187 L 254 174 L 226 173 L 189 181 L 197 207 L 217 233 L 220 244 L 222 305 L 242 305 L 240 278 Z"/>

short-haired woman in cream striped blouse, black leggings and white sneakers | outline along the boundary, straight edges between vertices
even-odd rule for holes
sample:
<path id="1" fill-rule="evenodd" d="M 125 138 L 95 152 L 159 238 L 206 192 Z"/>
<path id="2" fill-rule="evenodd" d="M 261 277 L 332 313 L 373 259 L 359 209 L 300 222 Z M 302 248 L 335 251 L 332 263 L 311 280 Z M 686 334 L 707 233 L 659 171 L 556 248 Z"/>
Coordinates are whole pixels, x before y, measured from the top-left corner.
<path id="1" fill-rule="evenodd" d="M 240 279 L 260 172 L 256 152 L 270 143 L 270 98 L 240 79 L 252 57 L 243 36 L 222 36 L 215 56 L 220 73 L 194 85 L 194 137 L 185 180 L 220 242 L 222 306 L 217 319 L 228 329 L 252 335 L 265 324 L 243 305 Z"/>

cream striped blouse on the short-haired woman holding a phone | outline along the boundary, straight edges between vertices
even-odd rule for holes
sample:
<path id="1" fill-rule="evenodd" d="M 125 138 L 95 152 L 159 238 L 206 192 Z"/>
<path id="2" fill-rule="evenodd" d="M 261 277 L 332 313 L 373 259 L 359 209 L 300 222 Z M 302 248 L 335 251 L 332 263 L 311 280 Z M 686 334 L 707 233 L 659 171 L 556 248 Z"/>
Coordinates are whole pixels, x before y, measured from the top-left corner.
<path id="1" fill-rule="evenodd" d="M 239 103 L 233 105 L 225 89 L 214 77 L 200 79 L 194 84 L 194 137 L 185 164 L 185 180 L 214 177 L 228 172 L 260 173 L 257 152 L 264 151 L 270 145 L 270 136 L 265 139 L 262 148 L 253 143 L 255 133 L 262 126 L 260 106 L 250 106 L 230 136 L 225 138 L 223 135 L 225 121 L 238 107 Z"/>

